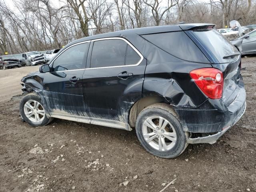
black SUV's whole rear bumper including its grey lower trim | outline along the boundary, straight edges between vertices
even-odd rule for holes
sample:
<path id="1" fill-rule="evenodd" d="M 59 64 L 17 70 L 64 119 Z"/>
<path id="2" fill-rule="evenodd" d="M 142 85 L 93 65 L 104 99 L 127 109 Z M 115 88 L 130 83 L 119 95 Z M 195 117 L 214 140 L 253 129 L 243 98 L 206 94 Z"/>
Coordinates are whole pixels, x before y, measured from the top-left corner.
<path id="1" fill-rule="evenodd" d="M 222 99 L 208 99 L 198 108 L 178 107 L 175 110 L 179 115 L 184 131 L 193 133 L 193 138 L 189 138 L 188 143 L 212 144 L 238 122 L 245 109 L 246 92 L 242 76 L 240 76 L 238 94 L 228 106 Z M 196 138 L 197 133 L 200 133 L 199 135 L 202 137 Z"/>

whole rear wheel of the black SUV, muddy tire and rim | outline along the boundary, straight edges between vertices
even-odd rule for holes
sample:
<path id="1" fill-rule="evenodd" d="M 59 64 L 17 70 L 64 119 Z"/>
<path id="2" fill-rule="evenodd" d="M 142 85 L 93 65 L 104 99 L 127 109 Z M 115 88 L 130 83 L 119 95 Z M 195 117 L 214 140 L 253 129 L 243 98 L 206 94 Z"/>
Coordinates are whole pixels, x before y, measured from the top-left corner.
<path id="1" fill-rule="evenodd" d="M 161 158 L 175 158 L 188 146 L 187 134 L 168 104 L 146 107 L 136 120 L 136 133 L 142 146 Z"/>

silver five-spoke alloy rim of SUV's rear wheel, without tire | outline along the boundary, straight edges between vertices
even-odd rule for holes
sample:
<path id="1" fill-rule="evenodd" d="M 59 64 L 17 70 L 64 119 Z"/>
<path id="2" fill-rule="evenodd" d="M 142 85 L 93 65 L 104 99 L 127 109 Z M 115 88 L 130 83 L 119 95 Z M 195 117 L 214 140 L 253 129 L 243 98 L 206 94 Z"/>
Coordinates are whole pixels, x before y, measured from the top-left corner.
<path id="1" fill-rule="evenodd" d="M 172 124 L 160 116 L 146 118 L 142 125 L 142 134 L 146 142 L 159 151 L 172 149 L 177 139 Z"/>

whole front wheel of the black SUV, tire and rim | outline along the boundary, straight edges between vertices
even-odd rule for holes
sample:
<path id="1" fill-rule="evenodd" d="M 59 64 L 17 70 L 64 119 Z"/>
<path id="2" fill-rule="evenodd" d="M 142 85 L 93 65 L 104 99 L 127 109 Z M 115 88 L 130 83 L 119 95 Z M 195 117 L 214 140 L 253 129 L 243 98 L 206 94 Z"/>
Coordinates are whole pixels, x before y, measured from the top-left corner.
<path id="1" fill-rule="evenodd" d="M 46 116 L 44 106 L 35 93 L 27 94 L 20 101 L 20 116 L 32 126 L 44 126 L 50 123 L 53 118 Z"/>

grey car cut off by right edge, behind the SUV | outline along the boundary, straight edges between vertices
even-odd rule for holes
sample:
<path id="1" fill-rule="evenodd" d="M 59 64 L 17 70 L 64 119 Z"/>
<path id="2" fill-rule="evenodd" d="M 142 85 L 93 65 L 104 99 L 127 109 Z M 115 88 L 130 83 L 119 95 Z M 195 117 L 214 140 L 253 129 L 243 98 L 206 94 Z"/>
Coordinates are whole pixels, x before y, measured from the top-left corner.
<path id="1" fill-rule="evenodd" d="M 236 40 L 232 40 L 231 43 L 242 55 L 256 54 L 256 29 Z"/>

